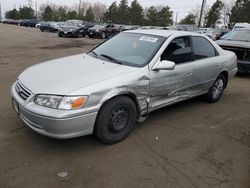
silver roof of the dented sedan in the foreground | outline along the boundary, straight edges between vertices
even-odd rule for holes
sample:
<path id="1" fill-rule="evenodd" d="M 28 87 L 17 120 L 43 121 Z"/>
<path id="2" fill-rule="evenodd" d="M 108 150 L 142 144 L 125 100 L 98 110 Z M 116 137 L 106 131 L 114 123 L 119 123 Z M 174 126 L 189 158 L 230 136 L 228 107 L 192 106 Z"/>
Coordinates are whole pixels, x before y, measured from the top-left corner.
<path id="1" fill-rule="evenodd" d="M 193 32 L 176 31 L 176 30 L 138 29 L 138 30 L 124 31 L 124 32 L 126 32 L 126 33 L 148 34 L 148 35 L 157 35 L 157 36 L 162 36 L 162 37 L 169 37 L 171 35 L 176 35 L 176 36 L 185 36 L 185 35 L 203 36 L 203 35 L 193 33 Z"/>

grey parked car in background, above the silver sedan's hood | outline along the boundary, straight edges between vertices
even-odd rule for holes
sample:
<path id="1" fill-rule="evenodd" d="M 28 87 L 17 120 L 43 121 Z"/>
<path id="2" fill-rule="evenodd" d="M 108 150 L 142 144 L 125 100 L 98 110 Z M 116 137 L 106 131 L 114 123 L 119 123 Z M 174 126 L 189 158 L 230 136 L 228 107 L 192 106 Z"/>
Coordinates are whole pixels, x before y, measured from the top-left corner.
<path id="1" fill-rule="evenodd" d="M 82 20 L 68 20 L 58 28 L 59 37 L 85 36 L 94 24 Z"/>

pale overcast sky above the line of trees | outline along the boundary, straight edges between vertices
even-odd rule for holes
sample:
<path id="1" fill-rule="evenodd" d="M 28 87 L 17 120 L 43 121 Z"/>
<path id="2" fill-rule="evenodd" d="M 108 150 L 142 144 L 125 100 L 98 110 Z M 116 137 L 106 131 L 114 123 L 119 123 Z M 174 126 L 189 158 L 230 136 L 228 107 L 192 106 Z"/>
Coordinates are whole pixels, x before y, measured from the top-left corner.
<path id="1" fill-rule="evenodd" d="M 82 0 L 84 1 L 84 0 Z M 107 5 L 111 5 L 112 2 L 115 0 L 88 0 L 85 2 L 101 2 Z M 132 0 L 128 0 L 129 4 Z M 179 19 L 183 18 L 188 12 L 190 12 L 192 9 L 195 9 L 197 5 L 201 5 L 202 0 L 138 0 L 139 3 L 143 7 L 150 7 L 152 5 L 168 5 L 170 6 L 171 10 L 174 12 L 174 17 L 176 16 L 176 12 L 178 12 Z M 206 0 L 206 3 L 208 5 L 212 5 L 216 0 Z M 229 0 L 226 0 L 229 1 Z M 2 14 L 4 16 L 4 12 L 6 10 L 13 9 L 14 6 L 16 8 L 19 8 L 22 5 L 27 5 L 27 0 L 0 0 L 0 3 L 2 5 Z M 52 3 L 52 4 L 58 4 L 58 5 L 67 5 L 67 6 L 73 6 L 74 4 L 79 3 L 79 0 L 33 0 L 33 4 L 37 2 L 38 7 L 39 5 L 43 3 Z M 120 0 L 117 0 L 117 3 L 119 3 Z M 34 5 L 33 5 L 34 6 Z"/>

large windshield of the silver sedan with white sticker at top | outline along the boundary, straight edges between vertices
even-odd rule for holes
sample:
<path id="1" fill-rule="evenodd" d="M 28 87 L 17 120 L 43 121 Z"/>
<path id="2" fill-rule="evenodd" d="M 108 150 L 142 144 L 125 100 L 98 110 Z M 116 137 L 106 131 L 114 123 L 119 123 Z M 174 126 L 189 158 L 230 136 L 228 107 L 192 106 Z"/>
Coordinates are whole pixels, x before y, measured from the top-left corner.
<path id="1" fill-rule="evenodd" d="M 142 67 L 150 62 L 161 47 L 165 37 L 120 33 L 92 50 L 94 57 L 116 60 L 123 65 Z"/>

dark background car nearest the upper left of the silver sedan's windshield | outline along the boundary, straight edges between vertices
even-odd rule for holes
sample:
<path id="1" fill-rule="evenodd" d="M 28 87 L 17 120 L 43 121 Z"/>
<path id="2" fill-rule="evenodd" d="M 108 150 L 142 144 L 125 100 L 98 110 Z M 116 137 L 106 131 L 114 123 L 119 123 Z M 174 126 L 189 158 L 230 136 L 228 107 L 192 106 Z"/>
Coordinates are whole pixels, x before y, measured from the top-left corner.
<path id="1" fill-rule="evenodd" d="M 103 39 L 114 36 L 122 31 L 121 25 L 107 24 L 107 25 L 95 25 L 88 30 L 88 36 L 101 37 Z"/>

